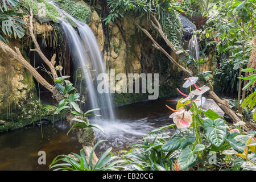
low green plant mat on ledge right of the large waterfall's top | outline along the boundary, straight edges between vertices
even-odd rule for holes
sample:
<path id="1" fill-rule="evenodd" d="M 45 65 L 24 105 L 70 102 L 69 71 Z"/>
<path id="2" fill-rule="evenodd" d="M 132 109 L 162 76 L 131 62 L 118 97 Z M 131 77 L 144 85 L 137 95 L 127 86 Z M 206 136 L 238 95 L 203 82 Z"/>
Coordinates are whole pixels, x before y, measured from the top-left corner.
<path id="1" fill-rule="evenodd" d="M 82 22 L 88 23 L 92 14 L 92 11 L 90 11 L 89 7 L 70 0 L 59 0 L 58 2 L 60 7 L 67 11 L 69 14 Z"/>

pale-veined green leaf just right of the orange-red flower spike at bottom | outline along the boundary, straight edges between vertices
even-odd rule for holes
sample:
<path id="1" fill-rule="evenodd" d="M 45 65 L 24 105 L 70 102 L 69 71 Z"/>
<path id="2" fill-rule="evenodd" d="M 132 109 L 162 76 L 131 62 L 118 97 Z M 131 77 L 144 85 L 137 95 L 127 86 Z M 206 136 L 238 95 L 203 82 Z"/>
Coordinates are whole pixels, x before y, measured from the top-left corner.
<path id="1" fill-rule="evenodd" d="M 177 159 L 177 163 L 179 164 L 181 170 L 188 168 L 195 161 L 196 161 L 196 152 L 192 150 L 192 146 L 185 147 L 180 152 L 180 156 Z"/>

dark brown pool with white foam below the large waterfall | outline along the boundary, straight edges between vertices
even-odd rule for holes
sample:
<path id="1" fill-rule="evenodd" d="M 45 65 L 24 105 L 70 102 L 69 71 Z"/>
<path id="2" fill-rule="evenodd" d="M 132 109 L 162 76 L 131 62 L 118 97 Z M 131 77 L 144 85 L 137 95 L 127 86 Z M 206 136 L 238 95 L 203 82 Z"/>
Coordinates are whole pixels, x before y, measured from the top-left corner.
<path id="1" fill-rule="evenodd" d="M 175 100 L 176 101 L 176 100 Z M 112 146 L 114 155 L 118 151 L 128 149 L 133 143 L 142 142 L 147 135 L 157 127 L 172 123 L 171 114 L 164 105 L 175 107 L 176 102 L 152 100 L 137 102 L 115 108 L 115 121 L 90 121 L 104 128 L 105 134 L 97 131 L 96 141 L 108 139 L 101 143 L 96 151 L 100 155 Z M 81 145 L 75 133 L 67 131 L 69 126 L 63 121 L 43 123 L 41 133 L 40 123 L 19 130 L 0 134 L 0 170 L 48 170 L 52 160 L 61 154 L 80 153 Z M 46 165 L 38 164 L 38 152 L 46 152 Z"/>

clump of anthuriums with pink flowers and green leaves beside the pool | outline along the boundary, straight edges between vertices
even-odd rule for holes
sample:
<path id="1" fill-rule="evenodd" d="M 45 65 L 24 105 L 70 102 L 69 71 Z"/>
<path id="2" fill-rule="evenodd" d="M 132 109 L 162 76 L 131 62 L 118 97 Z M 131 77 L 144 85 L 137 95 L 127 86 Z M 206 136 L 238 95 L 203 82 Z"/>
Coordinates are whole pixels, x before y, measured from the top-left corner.
<path id="1" fill-rule="evenodd" d="M 191 87 L 197 79 L 188 78 L 183 87 Z M 188 95 L 178 90 L 186 98 L 177 103 L 176 110 L 167 106 L 174 111 L 170 118 L 174 119 L 175 124 L 151 131 L 147 137 L 143 137 L 144 144 L 134 144 L 130 151 L 122 151 L 126 153 L 123 158 L 132 166 L 131 169 L 209 170 L 213 163 L 218 169 L 225 170 L 256 169 L 255 133 L 245 134 L 245 122 L 240 121 L 230 127 L 214 111 L 203 111 L 201 105 L 205 98 L 201 95 L 209 89 L 194 86 L 197 89 Z M 199 97 L 193 100 L 196 95 Z M 185 105 L 189 105 L 190 109 L 186 110 Z M 170 132 L 162 132 L 168 128 L 173 128 L 175 134 L 170 136 Z"/>

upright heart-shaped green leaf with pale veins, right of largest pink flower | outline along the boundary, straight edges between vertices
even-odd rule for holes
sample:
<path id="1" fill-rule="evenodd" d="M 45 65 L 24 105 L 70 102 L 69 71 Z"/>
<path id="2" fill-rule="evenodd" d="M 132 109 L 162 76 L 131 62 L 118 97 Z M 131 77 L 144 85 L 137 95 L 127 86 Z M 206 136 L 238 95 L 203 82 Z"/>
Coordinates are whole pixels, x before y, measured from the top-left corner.
<path id="1" fill-rule="evenodd" d="M 216 147 L 220 147 L 226 139 L 226 127 L 223 119 L 204 120 L 204 129 L 208 140 Z"/>

